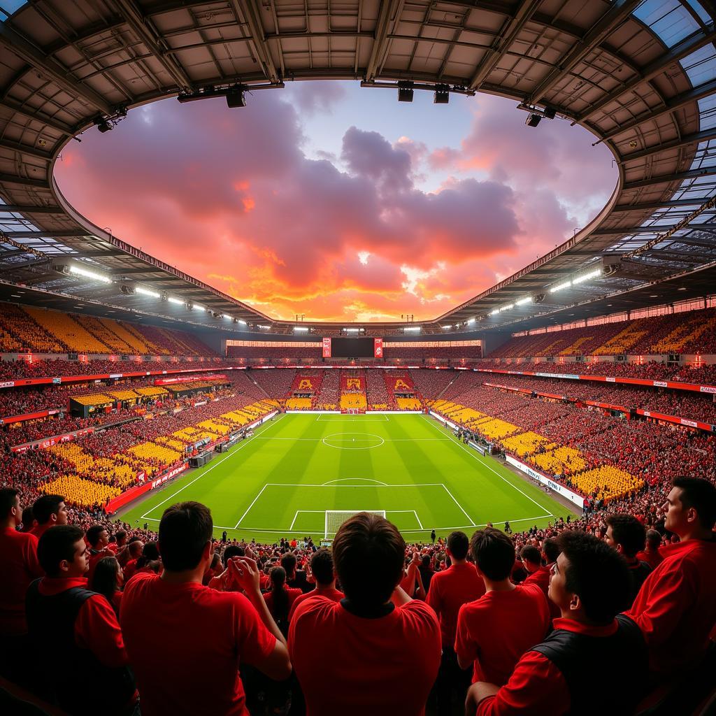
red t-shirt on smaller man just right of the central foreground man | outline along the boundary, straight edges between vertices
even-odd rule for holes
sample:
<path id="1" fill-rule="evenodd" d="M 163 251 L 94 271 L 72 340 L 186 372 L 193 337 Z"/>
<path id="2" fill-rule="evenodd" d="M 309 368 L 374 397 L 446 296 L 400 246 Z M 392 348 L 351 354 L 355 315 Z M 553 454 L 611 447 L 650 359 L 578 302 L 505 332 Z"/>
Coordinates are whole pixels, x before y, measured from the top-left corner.
<path id="1" fill-rule="evenodd" d="M 483 594 L 485 582 L 470 562 L 453 564 L 444 572 L 432 575 L 427 603 L 440 619 L 443 646 L 453 647 L 455 644 L 460 607 L 468 601 L 480 599 Z"/>

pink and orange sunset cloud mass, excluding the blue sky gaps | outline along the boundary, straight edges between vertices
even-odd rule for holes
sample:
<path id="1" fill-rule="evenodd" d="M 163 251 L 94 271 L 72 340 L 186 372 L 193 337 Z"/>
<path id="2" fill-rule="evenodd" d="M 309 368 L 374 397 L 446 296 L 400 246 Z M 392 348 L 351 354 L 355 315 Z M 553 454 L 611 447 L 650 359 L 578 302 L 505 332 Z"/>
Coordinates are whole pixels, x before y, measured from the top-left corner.
<path id="1" fill-rule="evenodd" d="M 319 108 L 339 99 L 324 89 L 301 97 Z M 498 145 L 490 112 L 486 124 L 478 115 L 460 150 L 442 154 L 350 127 L 342 170 L 304 155 L 299 115 L 277 94 L 257 92 L 240 112 L 218 100 L 167 100 L 133 110 L 105 135 L 86 132 L 56 173 L 99 226 L 272 316 L 432 318 L 574 226 L 556 179 L 538 190 L 515 180 L 528 172 L 514 170 L 516 153 Z M 484 137 L 495 142 L 485 160 L 490 178 L 460 178 Z M 571 145 L 556 141 L 523 147 L 526 165 L 562 163 L 576 181 Z M 435 193 L 420 190 L 426 161 L 444 162 L 457 178 Z"/>

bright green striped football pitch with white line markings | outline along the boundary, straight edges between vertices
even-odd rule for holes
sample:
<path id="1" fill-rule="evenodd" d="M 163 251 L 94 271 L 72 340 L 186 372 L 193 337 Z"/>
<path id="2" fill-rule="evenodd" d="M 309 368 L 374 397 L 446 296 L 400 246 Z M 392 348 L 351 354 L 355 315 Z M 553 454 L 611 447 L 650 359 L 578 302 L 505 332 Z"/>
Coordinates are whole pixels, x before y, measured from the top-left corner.
<path id="1" fill-rule="evenodd" d="M 384 511 L 409 541 L 575 514 L 427 415 L 281 415 L 121 518 L 157 528 L 182 500 L 211 508 L 216 536 L 266 542 L 324 536 L 326 511 Z"/>

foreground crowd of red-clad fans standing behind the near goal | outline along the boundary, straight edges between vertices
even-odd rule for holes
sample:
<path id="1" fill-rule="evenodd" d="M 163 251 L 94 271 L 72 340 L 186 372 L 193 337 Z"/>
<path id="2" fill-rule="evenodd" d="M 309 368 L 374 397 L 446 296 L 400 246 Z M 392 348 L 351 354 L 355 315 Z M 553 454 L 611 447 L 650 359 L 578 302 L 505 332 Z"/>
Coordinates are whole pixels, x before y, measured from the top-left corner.
<path id="1" fill-rule="evenodd" d="M 412 546 L 372 513 L 329 551 L 219 541 L 199 503 L 155 534 L 13 488 L 0 522 L 0 672 L 72 715 L 688 714 L 714 688 L 702 478 Z"/>

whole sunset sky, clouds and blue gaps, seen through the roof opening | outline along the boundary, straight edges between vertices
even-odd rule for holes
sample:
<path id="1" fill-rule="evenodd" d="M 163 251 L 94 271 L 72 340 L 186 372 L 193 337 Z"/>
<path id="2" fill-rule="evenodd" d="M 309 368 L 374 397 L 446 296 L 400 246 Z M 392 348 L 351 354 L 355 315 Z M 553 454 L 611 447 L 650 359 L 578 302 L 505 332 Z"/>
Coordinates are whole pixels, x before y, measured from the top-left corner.
<path id="1" fill-rule="evenodd" d="M 606 147 L 516 102 L 305 82 L 164 100 L 84 132 L 55 176 L 100 227 L 274 318 L 435 318 L 581 228 Z"/>

